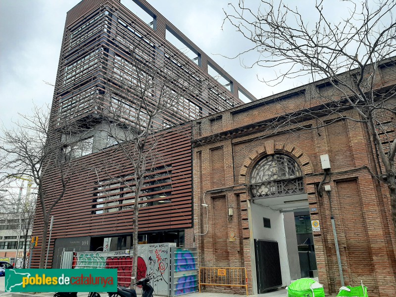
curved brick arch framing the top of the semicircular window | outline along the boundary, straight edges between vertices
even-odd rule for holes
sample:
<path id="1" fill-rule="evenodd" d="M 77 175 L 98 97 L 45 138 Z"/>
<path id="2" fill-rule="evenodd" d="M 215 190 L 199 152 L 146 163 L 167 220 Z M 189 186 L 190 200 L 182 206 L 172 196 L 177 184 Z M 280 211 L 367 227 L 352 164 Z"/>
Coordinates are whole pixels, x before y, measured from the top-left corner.
<path id="1" fill-rule="evenodd" d="M 297 146 L 294 146 L 293 144 L 267 141 L 261 147 L 256 148 L 247 156 L 239 173 L 239 183 L 246 184 L 249 182 L 247 177 L 259 159 L 261 159 L 264 155 L 274 154 L 277 152 L 286 152 L 287 154 L 293 156 L 300 165 L 303 175 L 313 173 L 312 162 L 301 149 L 297 148 Z"/>

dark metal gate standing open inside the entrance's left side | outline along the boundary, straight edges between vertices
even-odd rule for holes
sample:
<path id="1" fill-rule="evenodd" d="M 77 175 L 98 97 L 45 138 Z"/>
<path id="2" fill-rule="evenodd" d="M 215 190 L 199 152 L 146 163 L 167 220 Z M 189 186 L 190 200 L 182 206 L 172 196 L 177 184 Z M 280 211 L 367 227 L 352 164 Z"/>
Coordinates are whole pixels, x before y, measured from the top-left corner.
<path id="1" fill-rule="evenodd" d="M 281 262 L 278 242 L 254 240 L 256 255 L 257 293 L 282 286 Z"/>

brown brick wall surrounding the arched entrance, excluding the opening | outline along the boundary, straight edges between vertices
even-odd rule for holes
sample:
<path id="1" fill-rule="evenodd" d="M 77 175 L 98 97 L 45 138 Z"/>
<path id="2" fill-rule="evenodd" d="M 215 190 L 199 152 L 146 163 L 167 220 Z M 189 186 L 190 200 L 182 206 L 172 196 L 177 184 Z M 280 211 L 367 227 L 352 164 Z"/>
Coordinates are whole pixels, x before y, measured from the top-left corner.
<path id="1" fill-rule="evenodd" d="M 389 85 L 389 78 L 386 84 Z M 196 241 L 201 264 L 217 265 L 215 254 L 218 250 L 215 242 L 220 240 L 218 237 L 224 237 L 221 240 L 230 253 L 230 265 L 235 263 L 247 268 L 251 292 L 254 276 L 250 259 L 254 249 L 251 248 L 247 211 L 249 193 L 241 184 L 249 181 L 252 166 L 262 156 L 283 152 L 294 157 L 303 168 L 309 207 L 318 209 L 311 212 L 311 219 L 318 219 L 321 225 L 321 231 L 314 232 L 313 237 L 319 281 L 324 284 L 326 294 L 335 295 L 341 287 L 330 219 L 333 213 L 345 283 L 357 286 L 363 280 L 369 288 L 369 296 L 394 297 L 396 237 L 390 215 L 389 192 L 384 183 L 372 176 L 372 173 L 380 174 L 381 161 L 376 155 L 365 124 L 343 120 L 326 127 L 309 129 L 320 121 L 335 119 L 327 117 L 318 121 L 301 122 L 300 125 L 307 129 L 294 131 L 282 128 L 268 130 L 262 125 L 261 121 L 283 112 L 286 108 L 296 110 L 299 106 L 314 105 L 317 100 L 312 97 L 312 94 L 316 94 L 312 93 L 312 86 L 301 88 L 306 89 L 304 94 L 285 101 L 282 106 L 277 103 L 254 102 L 250 103 L 250 107 L 242 106 L 222 112 L 221 126 L 214 127 L 210 117 L 199 120 L 201 136 L 196 136 L 199 143 L 194 143 L 194 157 L 199 155 L 200 161 L 199 164 L 193 164 L 194 211 L 197 222 L 195 232 L 206 231 L 206 213 L 200 206 L 205 193 L 206 203 L 210 201 L 210 196 L 225 195 L 229 199 L 228 203 L 234 203 L 235 214 L 230 222 L 226 222 L 224 217 L 220 218 L 225 206 L 208 203 L 211 204 L 208 232 Z M 393 102 L 396 104 L 395 99 Z M 246 110 L 237 112 L 241 109 Z M 346 114 L 357 116 L 353 111 L 347 111 Z M 395 118 L 391 114 L 384 114 L 384 121 L 391 123 L 388 133 L 392 141 L 395 138 L 395 129 L 391 128 Z M 205 138 L 213 135 L 213 129 L 216 130 L 215 137 L 211 140 Z M 385 135 L 382 138 L 385 144 Z M 214 153 L 218 153 L 219 148 L 222 148 L 224 164 L 215 163 Z M 326 194 L 320 197 L 316 193 L 316 188 L 323 179 L 320 155 L 326 153 L 330 156 L 332 166 L 331 175 L 325 181 L 325 185 L 330 185 L 332 189 L 331 208 L 329 197 Z M 224 187 L 222 193 L 208 192 L 220 187 Z M 237 230 L 236 242 L 228 241 L 224 224 L 228 226 L 228 231 Z M 240 248 L 231 255 L 237 246 Z"/>

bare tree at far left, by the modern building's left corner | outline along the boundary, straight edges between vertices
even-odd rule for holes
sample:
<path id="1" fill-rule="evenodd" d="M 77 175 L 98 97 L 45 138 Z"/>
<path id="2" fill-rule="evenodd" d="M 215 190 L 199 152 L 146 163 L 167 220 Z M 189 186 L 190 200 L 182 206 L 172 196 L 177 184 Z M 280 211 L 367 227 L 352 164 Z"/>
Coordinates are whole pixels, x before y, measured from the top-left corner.
<path id="1" fill-rule="evenodd" d="M 12 128 L 2 128 L 0 182 L 28 176 L 37 185 L 43 215 L 40 268 L 44 268 L 50 214 L 78 169 L 73 157 L 84 148 L 75 135 L 83 133 L 60 117 L 51 121 L 49 106 L 34 106 L 31 115 L 20 117 Z"/>

